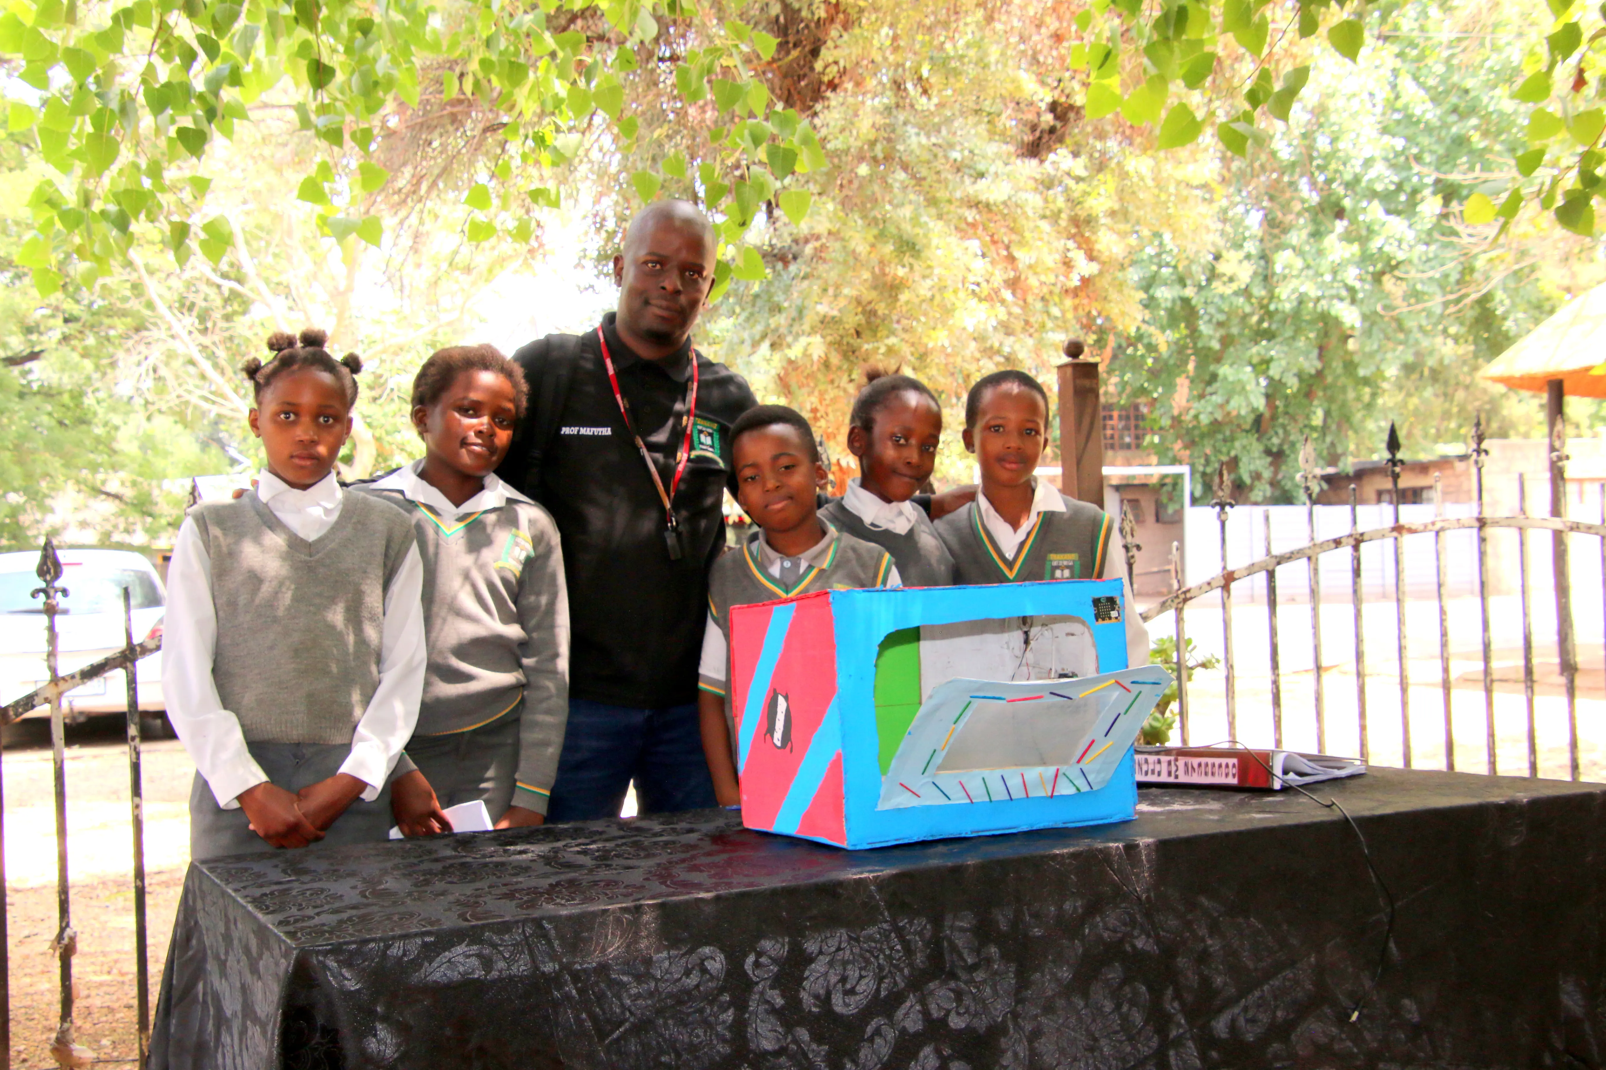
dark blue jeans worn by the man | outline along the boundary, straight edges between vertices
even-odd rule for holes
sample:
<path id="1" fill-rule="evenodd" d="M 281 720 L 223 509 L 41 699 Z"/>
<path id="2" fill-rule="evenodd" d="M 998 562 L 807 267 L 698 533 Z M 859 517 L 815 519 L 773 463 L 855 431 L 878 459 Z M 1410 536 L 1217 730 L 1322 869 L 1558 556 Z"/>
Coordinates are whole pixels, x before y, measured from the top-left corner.
<path id="1" fill-rule="evenodd" d="M 631 781 L 638 813 L 716 805 L 697 703 L 638 709 L 569 699 L 569 728 L 546 820 L 618 817 Z"/>

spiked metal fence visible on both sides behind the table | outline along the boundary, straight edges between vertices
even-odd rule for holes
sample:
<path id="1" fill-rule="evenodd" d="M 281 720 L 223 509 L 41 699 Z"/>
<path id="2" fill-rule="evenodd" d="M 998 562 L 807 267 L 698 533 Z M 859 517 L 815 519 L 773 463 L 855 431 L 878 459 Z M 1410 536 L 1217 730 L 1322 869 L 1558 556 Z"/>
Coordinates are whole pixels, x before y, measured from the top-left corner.
<path id="1" fill-rule="evenodd" d="M 1494 675 L 1492 675 L 1492 650 L 1490 650 L 1490 626 L 1489 626 L 1489 531 L 1497 528 L 1514 529 L 1519 541 L 1519 557 L 1522 561 L 1522 584 L 1521 584 L 1521 603 L 1522 603 L 1522 661 L 1524 661 L 1524 695 L 1527 699 L 1527 775 L 1539 775 L 1537 762 L 1537 744 L 1535 744 L 1535 728 L 1534 728 L 1534 701 L 1535 701 L 1535 683 L 1534 683 L 1534 645 L 1532 645 L 1532 621 L 1531 621 L 1531 584 L 1527 578 L 1527 533 L 1529 531 L 1550 531 L 1555 539 L 1553 547 L 1553 574 L 1556 582 L 1556 608 L 1558 608 L 1558 653 L 1561 664 L 1561 675 L 1566 687 L 1566 709 L 1567 709 L 1567 754 L 1569 754 L 1569 772 L 1574 780 L 1579 778 L 1579 732 L 1577 732 L 1577 653 L 1572 632 L 1572 602 L 1571 602 L 1571 584 L 1569 584 L 1569 558 L 1567 558 L 1567 537 L 1569 534 L 1593 536 L 1600 541 L 1601 568 L 1603 576 L 1606 576 L 1606 523 L 1584 523 L 1577 520 L 1567 520 L 1564 517 L 1529 517 L 1526 509 L 1519 507 L 1518 517 L 1484 517 L 1482 515 L 1482 432 L 1474 428 L 1473 435 L 1473 457 L 1478 465 L 1478 515 L 1476 517 L 1460 517 L 1460 518 L 1437 518 L 1431 521 L 1420 523 L 1399 523 L 1399 470 L 1400 462 L 1397 456 L 1397 440 L 1392 438 L 1391 428 L 1391 475 L 1394 478 L 1394 518 L 1396 523 L 1386 528 L 1375 528 L 1362 531 L 1359 529 L 1359 521 L 1354 502 L 1354 488 L 1351 488 L 1351 531 L 1344 536 L 1330 537 L 1317 541 L 1314 537 L 1314 513 L 1310 505 L 1310 496 L 1314 492 L 1314 480 L 1307 478 L 1307 523 L 1310 525 L 1312 541 L 1309 545 L 1288 550 L 1283 553 L 1267 553 L 1257 561 L 1249 565 L 1241 565 L 1237 568 L 1229 568 L 1213 579 L 1195 584 L 1192 587 L 1177 590 L 1169 598 L 1160 602 L 1150 610 L 1143 611 L 1142 618 L 1145 621 L 1155 621 L 1156 618 L 1174 613 L 1174 630 L 1177 643 L 1177 715 L 1179 728 L 1182 733 L 1182 741 L 1190 741 L 1190 717 L 1188 717 L 1188 687 L 1187 687 L 1187 666 L 1184 664 L 1187 658 L 1187 608 L 1209 595 L 1221 595 L 1221 614 L 1222 614 L 1222 638 L 1224 638 L 1224 667 L 1225 667 L 1225 703 L 1227 703 L 1227 732 L 1229 736 L 1237 738 L 1238 730 L 1238 709 L 1237 709 L 1237 663 L 1233 655 L 1233 624 L 1232 624 L 1232 587 L 1235 582 L 1243 582 L 1251 576 L 1266 574 L 1266 605 L 1269 619 L 1269 656 L 1270 656 L 1270 706 L 1272 706 L 1272 723 L 1275 735 L 1275 746 L 1283 743 L 1283 687 L 1282 687 L 1282 667 L 1280 667 L 1280 643 L 1278 643 L 1278 627 L 1277 627 L 1277 569 L 1282 566 L 1306 563 L 1309 573 L 1309 590 L 1310 590 L 1310 640 L 1314 664 L 1317 666 L 1315 674 L 1315 728 L 1317 728 L 1317 749 L 1327 749 L 1328 738 L 1328 719 L 1325 709 L 1325 685 L 1322 682 L 1320 667 L 1322 659 L 1322 621 L 1320 621 L 1320 605 L 1322 605 L 1322 576 L 1317 568 L 1317 561 L 1323 553 L 1336 553 L 1347 550 L 1351 557 L 1351 602 L 1354 605 L 1355 616 L 1355 634 L 1354 634 L 1354 653 L 1357 664 L 1357 728 L 1360 738 L 1360 757 L 1370 760 L 1368 754 L 1368 730 L 1367 730 L 1367 695 L 1365 695 L 1365 634 L 1362 629 L 1360 606 L 1363 600 L 1362 592 L 1362 569 L 1360 569 L 1360 547 L 1367 542 L 1392 542 L 1394 550 L 1394 574 L 1405 576 L 1404 571 L 1404 539 L 1410 536 L 1433 536 L 1436 542 L 1436 589 L 1439 603 L 1439 666 L 1441 666 L 1441 688 L 1444 695 L 1444 736 L 1445 736 L 1445 759 L 1447 767 L 1455 768 L 1455 749 L 1453 749 L 1453 725 L 1450 717 L 1450 650 L 1449 650 L 1449 618 L 1445 610 L 1445 571 L 1444 571 L 1444 533 L 1458 529 L 1474 529 L 1478 534 L 1478 568 L 1479 568 L 1479 605 L 1482 610 L 1482 683 L 1484 683 L 1484 711 L 1486 711 L 1486 744 L 1489 751 L 1487 772 L 1497 772 L 1495 760 L 1495 711 L 1494 711 Z M 1551 454 L 1553 478 L 1556 475 L 1564 475 L 1566 456 L 1561 446 L 1556 444 Z M 1307 476 L 1314 476 L 1309 472 L 1312 465 L 1306 465 Z M 1216 501 L 1213 502 L 1217 510 L 1219 533 L 1222 542 L 1222 560 L 1225 561 L 1227 547 L 1227 510 L 1232 509 L 1232 501 L 1227 492 L 1225 473 L 1217 475 L 1217 491 Z M 1564 496 L 1563 496 L 1564 501 Z M 1603 510 L 1606 510 L 1606 501 L 1603 501 Z M 1606 517 L 1603 517 L 1606 520 Z M 1132 523 L 1131 517 L 1123 517 L 1123 531 L 1127 536 L 1127 568 L 1132 568 L 1134 557 L 1137 553 L 1137 545 L 1132 541 Z M 1270 547 L 1267 545 L 1267 550 Z M 1176 576 L 1180 582 L 1179 553 L 1172 547 L 1172 561 L 1176 568 Z M 109 672 L 124 671 L 127 680 L 127 727 L 128 727 L 128 781 L 130 781 L 130 833 L 132 833 L 132 884 L 133 884 L 133 921 L 135 921 L 135 977 L 137 977 L 137 1014 L 138 1014 L 138 1065 L 145 1067 L 148 1049 L 149 1049 L 149 966 L 148 966 L 148 934 L 146 934 L 146 889 L 145 889 L 145 812 L 143 812 L 143 789 L 141 789 L 141 773 L 140 773 L 140 703 L 138 703 L 138 680 L 133 666 L 141 658 L 146 658 L 157 650 L 161 650 L 161 637 L 154 635 L 141 643 L 133 642 L 133 618 L 128 602 L 128 592 L 124 590 L 124 648 L 108 658 L 103 658 L 93 664 L 84 666 L 74 672 L 61 675 L 58 672 L 56 658 L 56 614 L 61 611 L 59 598 L 67 594 L 64 587 L 59 586 L 63 568 L 56 557 L 55 545 L 47 539 L 40 552 L 37 574 L 40 579 L 40 587 L 34 590 L 35 598 L 43 598 L 43 614 L 47 629 L 47 669 L 50 680 L 31 695 L 26 695 L 3 707 L 0 707 L 0 723 L 13 723 L 19 717 L 39 709 L 42 706 L 50 707 L 50 738 L 51 738 L 51 757 L 53 757 L 53 775 L 55 775 L 55 818 L 56 818 L 56 902 L 59 927 L 53 942 L 53 948 L 59 959 L 59 990 L 61 990 L 61 1014 L 56 1030 L 55 1041 L 51 1044 L 51 1056 L 63 1067 L 79 1067 L 88 1064 L 88 1052 L 77 1046 L 74 1041 L 72 1028 L 72 956 L 77 950 L 77 935 L 72 929 L 72 902 L 71 902 L 71 882 L 69 882 L 69 866 L 67 866 L 67 796 L 66 796 L 66 762 L 64 762 L 64 728 L 66 720 L 63 714 L 63 696 L 84 683 L 103 677 Z M 1410 751 L 1410 680 L 1407 669 L 1407 650 L 1405 650 L 1405 594 L 1407 584 L 1394 584 L 1394 603 L 1396 603 L 1396 653 L 1399 656 L 1399 688 L 1400 688 L 1400 707 L 1399 717 L 1402 725 L 1404 740 L 1404 765 L 1412 767 L 1412 751 Z M 1606 598 L 1603 598 L 1603 606 L 1606 606 Z M 1437 714 L 1437 711 L 1434 711 Z M 5 823 L 3 823 L 3 768 L 0 768 L 0 1067 L 10 1068 L 11 1065 L 11 1035 L 10 1035 L 10 1012 L 11 1012 L 11 996 L 10 996 L 10 954 L 6 943 L 6 916 L 5 916 Z"/>

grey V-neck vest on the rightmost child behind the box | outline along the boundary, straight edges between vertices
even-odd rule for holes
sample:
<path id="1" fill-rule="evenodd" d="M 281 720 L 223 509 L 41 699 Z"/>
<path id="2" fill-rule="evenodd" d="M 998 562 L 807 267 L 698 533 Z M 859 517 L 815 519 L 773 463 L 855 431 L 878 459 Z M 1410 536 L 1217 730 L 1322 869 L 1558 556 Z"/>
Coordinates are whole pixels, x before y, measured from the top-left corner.
<path id="1" fill-rule="evenodd" d="M 956 582 L 1023 584 L 1033 579 L 1099 579 L 1115 523 L 1097 505 L 1060 496 L 1063 513 L 1037 513 L 1015 557 L 1004 557 L 975 502 L 936 521 L 936 534 L 954 555 Z"/>

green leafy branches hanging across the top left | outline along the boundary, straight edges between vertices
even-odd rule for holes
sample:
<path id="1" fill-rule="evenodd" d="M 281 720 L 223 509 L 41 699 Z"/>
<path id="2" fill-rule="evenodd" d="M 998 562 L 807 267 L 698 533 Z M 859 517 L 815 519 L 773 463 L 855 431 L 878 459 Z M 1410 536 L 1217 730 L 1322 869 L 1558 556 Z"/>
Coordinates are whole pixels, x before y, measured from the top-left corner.
<path id="1" fill-rule="evenodd" d="M 13 99 L 6 128 L 32 130 L 56 172 L 34 199 L 34 250 L 47 261 L 37 271 L 90 265 L 104 273 L 138 226 L 161 228 L 183 263 L 198 239 L 167 223 L 193 218 L 206 196 L 173 180 L 204 168 L 218 138 L 233 138 L 234 124 L 249 122 L 270 91 L 321 146 L 313 173 L 286 178 L 331 239 L 379 242 L 377 212 L 397 180 L 392 157 L 377 154 L 419 112 L 454 107 L 491 132 L 475 143 L 477 159 L 461 160 L 472 172 L 453 194 L 466 237 L 528 241 L 535 221 L 527 212 L 556 205 L 552 173 L 593 146 L 626 159 L 638 149 L 625 75 L 641 67 L 638 50 L 654 48 L 665 24 L 695 22 L 691 0 L 562 6 L 559 16 L 556 3 L 498 0 L 454 8 L 430 0 L 381 8 L 365 0 L 108 0 L 69 21 L 59 0 L 18 0 L 0 14 L 0 56 L 39 98 Z M 589 29 L 573 29 L 581 24 Z M 718 175 L 700 186 L 719 199 L 734 194 L 719 210 L 731 223 L 723 237 L 736 244 L 784 186 L 824 165 L 824 154 L 808 124 L 777 107 L 752 69 L 776 55 L 774 35 L 736 19 L 697 34 L 675 82 L 686 103 L 711 90 L 728 119 L 703 156 Z M 416 162 L 406 168 L 416 180 Z M 511 196 L 532 178 L 548 193 Z M 650 199 L 663 181 L 638 170 L 631 184 Z M 413 188 L 442 189 L 438 181 Z M 683 184 L 676 193 L 697 191 Z M 787 204 L 790 212 L 781 212 L 801 218 L 808 197 Z M 214 258 L 220 244 L 207 241 L 202 252 Z"/>

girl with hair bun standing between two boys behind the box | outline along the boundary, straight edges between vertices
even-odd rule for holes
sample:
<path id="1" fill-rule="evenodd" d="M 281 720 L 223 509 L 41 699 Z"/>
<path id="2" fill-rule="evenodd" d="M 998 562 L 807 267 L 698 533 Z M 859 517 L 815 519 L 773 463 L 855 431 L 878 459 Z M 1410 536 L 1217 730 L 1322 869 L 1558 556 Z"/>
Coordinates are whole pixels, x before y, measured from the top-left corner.
<path id="1" fill-rule="evenodd" d="M 931 478 L 943 438 L 943 407 L 919 379 L 864 372 L 848 415 L 848 452 L 859 475 L 819 515 L 893 555 L 906 587 L 948 587 L 954 558 L 914 496 Z"/>

